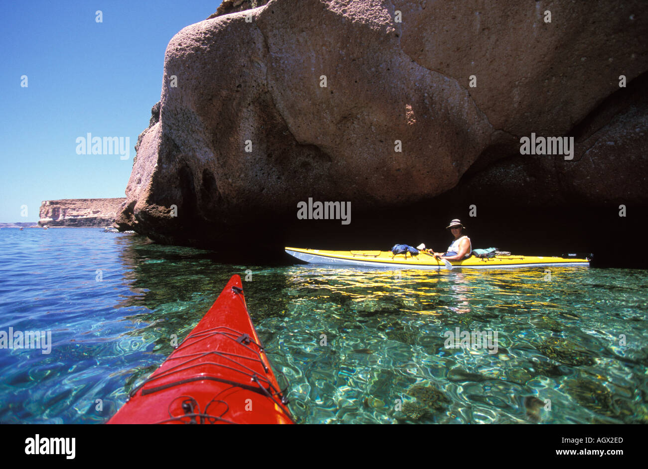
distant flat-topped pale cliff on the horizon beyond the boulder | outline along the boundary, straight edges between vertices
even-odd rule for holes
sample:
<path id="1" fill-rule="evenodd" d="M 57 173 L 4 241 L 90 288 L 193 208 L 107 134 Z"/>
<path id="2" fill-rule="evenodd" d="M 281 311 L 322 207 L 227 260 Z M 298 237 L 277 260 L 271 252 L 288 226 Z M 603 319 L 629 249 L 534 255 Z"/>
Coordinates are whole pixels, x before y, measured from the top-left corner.
<path id="1" fill-rule="evenodd" d="M 40 226 L 110 226 L 126 199 L 62 199 L 43 201 L 40 207 Z"/>

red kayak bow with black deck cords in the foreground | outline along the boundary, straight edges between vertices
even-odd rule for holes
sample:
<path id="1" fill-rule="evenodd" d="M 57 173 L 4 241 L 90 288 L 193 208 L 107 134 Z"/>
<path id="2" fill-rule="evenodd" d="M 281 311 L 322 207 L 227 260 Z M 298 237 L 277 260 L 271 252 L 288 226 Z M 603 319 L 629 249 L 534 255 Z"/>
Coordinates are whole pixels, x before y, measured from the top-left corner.
<path id="1" fill-rule="evenodd" d="M 291 424 L 288 400 L 232 276 L 191 334 L 109 424 Z"/>

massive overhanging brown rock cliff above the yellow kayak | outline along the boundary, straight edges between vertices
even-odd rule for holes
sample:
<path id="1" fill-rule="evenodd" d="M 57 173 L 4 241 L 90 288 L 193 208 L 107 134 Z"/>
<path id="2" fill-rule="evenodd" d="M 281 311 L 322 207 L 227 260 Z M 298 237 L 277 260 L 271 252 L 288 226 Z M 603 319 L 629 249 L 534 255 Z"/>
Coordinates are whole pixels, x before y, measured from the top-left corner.
<path id="1" fill-rule="evenodd" d="M 643 0 L 249 6 L 226 1 L 168 44 L 121 229 L 213 246 L 264 237 L 309 197 L 362 213 L 453 188 L 481 204 L 648 204 Z M 573 136 L 573 160 L 520 155 L 531 133 Z"/>

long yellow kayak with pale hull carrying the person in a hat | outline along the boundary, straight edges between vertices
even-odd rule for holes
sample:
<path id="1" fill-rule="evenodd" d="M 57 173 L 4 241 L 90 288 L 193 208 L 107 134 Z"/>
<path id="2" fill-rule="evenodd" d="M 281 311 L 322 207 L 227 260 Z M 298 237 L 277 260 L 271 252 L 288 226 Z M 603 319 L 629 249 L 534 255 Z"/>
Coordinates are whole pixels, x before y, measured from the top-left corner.
<path id="1" fill-rule="evenodd" d="M 386 268 L 422 268 L 443 269 L 446 263 L 436 257 L 422 252 L 418 256 L 397 254 L 391 251 L 327 251 L 323 249 L 285 248 L 290 256 L 310 264 L 326 264 L 336 266 L 365 266 Z M 451 261 L 452 268 L 511 268 L 511 267 L 566 267 L 590 265 L 589 259 L 573 257 L 543 257 L 543 256 L 471 256 L 462 261 Z"/>

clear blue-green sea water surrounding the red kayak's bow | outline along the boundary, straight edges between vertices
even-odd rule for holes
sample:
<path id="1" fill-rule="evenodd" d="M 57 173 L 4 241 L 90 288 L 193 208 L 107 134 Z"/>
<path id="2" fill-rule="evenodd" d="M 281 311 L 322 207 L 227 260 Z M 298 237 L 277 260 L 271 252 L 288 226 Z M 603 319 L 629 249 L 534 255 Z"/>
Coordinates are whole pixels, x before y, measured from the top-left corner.
<path id="1" fill-rule="evenodd" d="M 0 422 L 106 421 L 246 269 L 298 422 L 648 422 L 646 270 L 223 265 L 94 228 L 5 228 L 0 246 L 0 331 L 53 342 L 0 349 Z M 497 353 L 446 348 L 456 327 L 497 332 Z"/>

